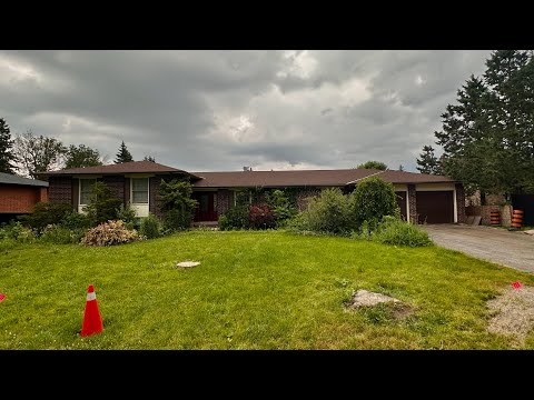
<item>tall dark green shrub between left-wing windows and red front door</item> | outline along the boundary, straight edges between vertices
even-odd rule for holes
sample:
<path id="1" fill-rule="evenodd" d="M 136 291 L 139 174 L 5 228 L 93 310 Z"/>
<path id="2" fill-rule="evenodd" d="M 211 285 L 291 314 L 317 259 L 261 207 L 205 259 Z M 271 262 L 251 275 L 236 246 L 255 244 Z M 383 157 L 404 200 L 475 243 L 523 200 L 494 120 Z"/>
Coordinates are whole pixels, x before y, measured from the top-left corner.
<path id="1" fill-rule="evenodd" d="M 161 179 L 159 196 L 164 213 L 165 230 L 182 230 L 191 226 L 197 201 L 191 199 L 192 186 L 189 180 L 178 178 L 167 182 Z"/>

